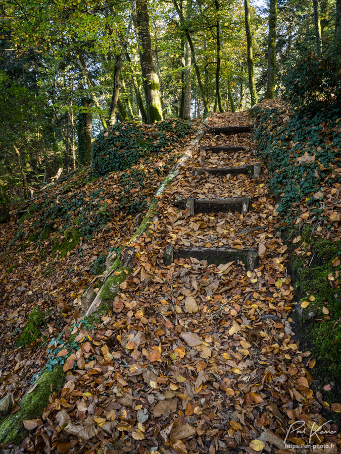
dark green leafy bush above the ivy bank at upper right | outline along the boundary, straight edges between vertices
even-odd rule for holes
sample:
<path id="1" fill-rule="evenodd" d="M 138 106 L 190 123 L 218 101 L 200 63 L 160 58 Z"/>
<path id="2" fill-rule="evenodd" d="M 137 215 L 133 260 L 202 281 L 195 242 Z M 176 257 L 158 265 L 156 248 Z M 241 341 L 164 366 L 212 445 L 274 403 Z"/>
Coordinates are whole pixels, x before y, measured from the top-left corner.
<path id="1" fill-rule="evenodd" d="M 282 78 L 281 96 L 295 108 L 317 112 L 341 103 L 341 45 L 325 41 L 323 53 L 311 50 Z"/>

